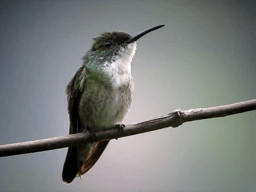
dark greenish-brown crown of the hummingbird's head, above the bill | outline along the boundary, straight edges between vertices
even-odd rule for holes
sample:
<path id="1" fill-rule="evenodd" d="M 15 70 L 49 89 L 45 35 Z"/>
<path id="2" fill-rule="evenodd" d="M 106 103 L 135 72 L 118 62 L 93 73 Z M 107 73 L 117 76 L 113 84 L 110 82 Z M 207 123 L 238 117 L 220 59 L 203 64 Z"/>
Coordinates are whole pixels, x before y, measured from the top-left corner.
<path id="1" fill-rule="evenodd" d="M 117 46 L 125 43 L 131 35 L 126 32 L 104 32 L 96 38 L 92 38 L 94 43 L 92 44 L 91 51 L 107 50 L 113 46 Z"/>

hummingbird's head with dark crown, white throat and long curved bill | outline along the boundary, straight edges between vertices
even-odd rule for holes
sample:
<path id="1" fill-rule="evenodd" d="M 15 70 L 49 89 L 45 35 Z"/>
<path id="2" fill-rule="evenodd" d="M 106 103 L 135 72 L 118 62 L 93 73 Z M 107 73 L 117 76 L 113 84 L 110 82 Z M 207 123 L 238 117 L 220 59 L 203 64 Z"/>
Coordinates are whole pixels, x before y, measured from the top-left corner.
<path id="1" fill-rule="evenodd" d="M 116 68 L 121 73 L 130 72 L 130 63 L 136 50 L 136 40 L 163 26 L 158 25 L 149 28 L 135 36 L 116 31 L 101 33 L 100 36 L 93 38 L 94 43 L 91 50 L 84 57 L 84 61 L 99 60 L 96 63 L 102 66 Z"/>

